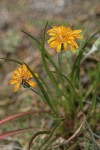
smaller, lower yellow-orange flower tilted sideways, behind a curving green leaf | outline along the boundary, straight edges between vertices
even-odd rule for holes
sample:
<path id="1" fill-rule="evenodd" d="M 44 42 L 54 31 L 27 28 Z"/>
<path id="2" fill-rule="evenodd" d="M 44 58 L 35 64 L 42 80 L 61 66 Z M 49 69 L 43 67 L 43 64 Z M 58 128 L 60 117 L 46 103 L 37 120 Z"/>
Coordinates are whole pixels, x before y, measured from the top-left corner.
<path id="1" fill-rule="evenodd" d="M 37 73 L 34 73 L 36 77 L 38 77 Z M 13 72 L 12 79 L 10 81 L 10 84 L 15 84 L 14 86 L 14 92 L 16 92 L 19 88 L 19 86 L 22 84 L 23 87 L 36 87 L 36 83 L 32 80 L 32 74 L 27 69 L 26 65 L 23 64 L 21 67 L 19 67 L 17 70 Z"/>

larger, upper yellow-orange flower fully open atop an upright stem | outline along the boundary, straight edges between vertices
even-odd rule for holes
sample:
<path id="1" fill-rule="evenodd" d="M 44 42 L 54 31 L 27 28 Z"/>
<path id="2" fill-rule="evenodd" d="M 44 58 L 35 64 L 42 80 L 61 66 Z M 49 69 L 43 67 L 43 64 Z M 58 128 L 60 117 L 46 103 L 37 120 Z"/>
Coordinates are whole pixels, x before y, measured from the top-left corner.
<path id="1" fill-rule="evenodd" d="M 50 48 L 56 48 L 59 53 L 61 50 L 67 50 L 68 45 L 73 52 L 75 47 L 78 48 L 76 39 L 82 39 L 83 36 L 79 35 L 81 30 L 72 30 L 70 27 L 65 26 L 54 26 L 52 29 L 48 30 L 48 34 L 52 36 L 47 42 Z"/>

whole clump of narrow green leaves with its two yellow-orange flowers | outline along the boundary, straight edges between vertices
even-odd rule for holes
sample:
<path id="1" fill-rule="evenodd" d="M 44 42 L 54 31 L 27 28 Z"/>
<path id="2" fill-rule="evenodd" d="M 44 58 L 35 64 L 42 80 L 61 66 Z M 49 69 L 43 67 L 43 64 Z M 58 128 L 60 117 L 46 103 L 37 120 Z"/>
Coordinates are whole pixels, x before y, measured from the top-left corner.
<path id="1" fill-rule="evenodd" d="M 92 73 L 91 69 L 85 74 L 88 80 L 87 85 L 84 85 L 81 69 L 86 59 L 85 56 L 87 56 L 84 56 L 87 47 L 100 31 L 84 40 L 85 35 L 84 37 L 80 35 L 81 30 L 72 30 L 63 25 L 57 25 L 49 29 L 48 34 L 52 37 L 48 40 L 48 44 L 50 48 L 56 48 L 57 60 L 55 61 L 45 48 L 47 26 L 48 22 L 40 41 L 33 35 L 22 31 L 37 43 L 47 78 L 44 79 L 41 75 L 37 75 L 25 62 L 12 58 L 5 59 L 20 65 L 14 71 L 11 80 L 11 83 L 15 84 L 15 91 L 18 90 L 20 85 L 26 90 L 30 89 L 39 95 L 42 100 L 45 100 L 51 110 L 52 124 L 48 130 L 37 131 L 32 136 L 28 143 L 28 149 L 31 148 L 33 140 L 38 136 L 41 137 L 36 142 L 35 149 L 38 150 L 99 149 L 100 62 L 96 61 L 92 76 L 89 75 L 89 73 Z M 81 39 L 79 44 L 76 42 L 78 38 Z M 69 49 L 71 49 L 70 52 Z M 89 52 L 90 54 L 91 52 Z M 34 82 L 31 81 L 32 79 L 34 79 Z M 28 113 L 7 118 L 4 121 L 2 120 L 1 124 L 26 114 Z M 29 129 L 10 132 L 0 137 L 2 139 L 8 135 L 27 130 Z"/>

